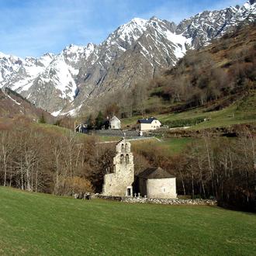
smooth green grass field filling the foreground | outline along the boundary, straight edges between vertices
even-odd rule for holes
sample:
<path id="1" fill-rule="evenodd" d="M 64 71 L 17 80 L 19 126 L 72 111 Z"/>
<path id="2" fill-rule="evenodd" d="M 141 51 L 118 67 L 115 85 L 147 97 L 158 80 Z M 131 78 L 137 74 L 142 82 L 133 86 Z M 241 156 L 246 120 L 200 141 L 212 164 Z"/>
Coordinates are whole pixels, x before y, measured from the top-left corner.
<path id="1" fill-rule="evenodd" d="M 0 187 L 0 254 L 252 255 L 256 216 L 78 200 Z"/>

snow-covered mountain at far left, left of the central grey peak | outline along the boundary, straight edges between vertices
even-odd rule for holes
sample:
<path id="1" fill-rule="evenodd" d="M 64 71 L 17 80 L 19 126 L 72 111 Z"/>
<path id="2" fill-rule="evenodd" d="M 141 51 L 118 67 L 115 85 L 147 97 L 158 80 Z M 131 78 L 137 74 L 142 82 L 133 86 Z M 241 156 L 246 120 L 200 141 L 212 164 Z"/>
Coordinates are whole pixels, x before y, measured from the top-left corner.
<path id="1" fill-rule="evenodd" d="M 44 54 L 43 57 L 19 57 L 0 54 L 0 86 L 12 88 L 43 109 L 62 109 L 78 93 L 75 78 L 84 61 L 95 50 L 70 45 L 61 54 Z"/>

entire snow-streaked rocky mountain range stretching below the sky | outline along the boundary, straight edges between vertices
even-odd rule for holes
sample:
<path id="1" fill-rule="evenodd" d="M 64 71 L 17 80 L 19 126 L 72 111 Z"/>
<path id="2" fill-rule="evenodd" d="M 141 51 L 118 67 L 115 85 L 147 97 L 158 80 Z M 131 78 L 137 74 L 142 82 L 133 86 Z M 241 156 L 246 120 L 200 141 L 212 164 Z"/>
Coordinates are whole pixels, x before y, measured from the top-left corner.
<path id="1" fill-rule="evenodd" d="M 74 115 L 88 99 L 153 78 L 173 66 L 189 48 L 199 48 L 241 22 L 253 22 L 255 0 L 242 6 L 205 11 L 174 22 L 135 18 L 101 44 L 70 45 L 60 54 L 22 59 L 0 54 L 0 87 L 16 90 L 53 112 Z"/>

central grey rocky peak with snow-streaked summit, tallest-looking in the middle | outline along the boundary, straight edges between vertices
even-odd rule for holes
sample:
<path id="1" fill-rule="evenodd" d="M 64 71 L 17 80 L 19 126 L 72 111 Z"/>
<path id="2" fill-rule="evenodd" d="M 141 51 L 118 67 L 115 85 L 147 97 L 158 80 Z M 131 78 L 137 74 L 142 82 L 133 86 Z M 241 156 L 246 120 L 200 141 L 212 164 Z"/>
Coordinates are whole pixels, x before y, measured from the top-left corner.
<path id="1" fill-rule="evenodd" d="M 81 68 L 79 94 L 71 108 L 112 88 L 129 87 L 138 78 L 152 78 L 157 71 L 175 64 L 189 42 L 185 36 L 175 34 L 174 23 L 156 17 L 132 19 L 99 45 L 94 64 Z"/>

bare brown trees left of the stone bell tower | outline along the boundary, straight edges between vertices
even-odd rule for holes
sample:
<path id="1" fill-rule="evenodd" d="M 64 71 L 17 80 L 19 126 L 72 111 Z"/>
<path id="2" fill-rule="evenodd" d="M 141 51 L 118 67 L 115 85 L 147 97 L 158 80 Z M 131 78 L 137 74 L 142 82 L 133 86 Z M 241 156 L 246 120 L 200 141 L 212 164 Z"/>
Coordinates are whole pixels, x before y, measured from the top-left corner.
<path id="1" fill-rule="evenodd" d="M 49 133 L 29 124 L 2 130 L 0 185 L 57 195 L 100 192 L 112 150 L 97 147 L 96 141 L 95 137 L 78 139 L 73 132 Z"/>

